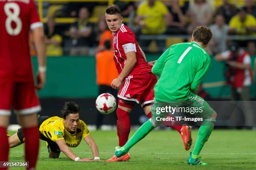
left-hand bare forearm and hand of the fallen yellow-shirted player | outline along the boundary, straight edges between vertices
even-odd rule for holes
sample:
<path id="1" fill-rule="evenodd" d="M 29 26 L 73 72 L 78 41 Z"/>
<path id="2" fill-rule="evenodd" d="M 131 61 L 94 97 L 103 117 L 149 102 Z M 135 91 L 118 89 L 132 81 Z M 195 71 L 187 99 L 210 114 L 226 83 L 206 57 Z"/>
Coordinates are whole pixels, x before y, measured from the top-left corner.
<path id="1" fill-rule="evenodd" d="M 73 153 L 73 151 L 67 146 L 64 139 L 56 140 L 57 145 L 59 146 L 59 149 L 61 152 L 63 152 L 68 158 L 71 160 L 75 160 L 75 158 L 78 158 L 78 156 Z M 91 158 L 80 158 L 76 161 L 91 161 Z"/>

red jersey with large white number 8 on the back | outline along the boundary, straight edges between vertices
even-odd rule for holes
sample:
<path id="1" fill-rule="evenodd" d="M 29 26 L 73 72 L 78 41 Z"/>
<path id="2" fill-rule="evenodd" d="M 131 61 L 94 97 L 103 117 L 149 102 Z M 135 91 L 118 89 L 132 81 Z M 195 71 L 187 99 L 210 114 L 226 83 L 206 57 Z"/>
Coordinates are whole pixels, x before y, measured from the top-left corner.
<path id="1" fill-rule="evenodd" d="M 0 0 L 0 79 L 32 81 L 30 29 L 42 26 L 33 0 Z"/>

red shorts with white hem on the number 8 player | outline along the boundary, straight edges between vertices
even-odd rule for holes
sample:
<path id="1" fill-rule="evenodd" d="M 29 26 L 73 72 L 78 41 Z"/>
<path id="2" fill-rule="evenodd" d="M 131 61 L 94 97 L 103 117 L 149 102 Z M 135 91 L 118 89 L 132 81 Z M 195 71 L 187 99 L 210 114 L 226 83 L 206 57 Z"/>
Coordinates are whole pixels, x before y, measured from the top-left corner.
<path id="1" fill-rule="evenodd" d="M 0 115 L 10 115 L 13 106 L 15 113 L 28 115 L 39 112 L 41 106 L 34 83 L 0 81 Z"/>

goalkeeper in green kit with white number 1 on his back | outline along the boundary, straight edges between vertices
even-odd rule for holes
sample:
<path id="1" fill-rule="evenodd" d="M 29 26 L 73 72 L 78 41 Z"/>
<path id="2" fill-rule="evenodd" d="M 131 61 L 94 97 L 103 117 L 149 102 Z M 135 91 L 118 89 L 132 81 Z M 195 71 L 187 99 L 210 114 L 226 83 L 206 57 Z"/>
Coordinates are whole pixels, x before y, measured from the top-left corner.
<path id="1" fill-rule="evenodd" d="M 155 100 L 151 107 L 153 116 L 141 125 L 123 147 L 116 147 L 115 155 L 117 157 L 128 153 L 133 145 L 162 123 L 157 121 L 156 117 L 166 117 L 168 113 L 157 113 L 158 104 L 181 101 L 179 103 L 182 105 L 189 103 L 190 107 L 201 107 L 202 112 L 195 112 L 194 116 L 203 118 L 195 148 L 192 154 L 190 153 L 187 163 L 189 165 L 207 165 L 202 162 L 199 154 L 212 133 L 217 113 L 194 92 L 210 67 L 211 59 L 204 48 L 207 47 L 211 38 L 212 32 L 209 28 L 197 27 L 193 31 L 190 43 L 172 45 L 155 62 L 152 72 L 161 76 L 154 87 Z"/>

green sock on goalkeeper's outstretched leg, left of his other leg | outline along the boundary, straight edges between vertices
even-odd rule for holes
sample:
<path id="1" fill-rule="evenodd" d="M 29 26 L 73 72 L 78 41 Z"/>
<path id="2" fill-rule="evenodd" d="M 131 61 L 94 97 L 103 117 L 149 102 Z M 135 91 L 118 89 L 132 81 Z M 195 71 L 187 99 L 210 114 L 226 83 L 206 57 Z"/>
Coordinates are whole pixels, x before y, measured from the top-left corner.
<path id="1" fill-rule="evenodd" d="M 121 150 L 126 150 L 127 152 L 138 143 L 140 140 L 142 140 L 148 133 L 150 133 L 154 129 L 153 125 L 151 124 L 150 119 L 146 121 L 143 125 L 141 125 L 140 128 L 133 134 L 130 140 L 128 140 L 127 143 L 121 148 Z"/>

